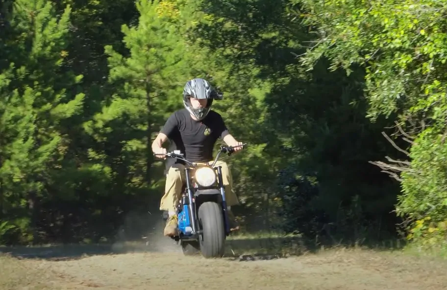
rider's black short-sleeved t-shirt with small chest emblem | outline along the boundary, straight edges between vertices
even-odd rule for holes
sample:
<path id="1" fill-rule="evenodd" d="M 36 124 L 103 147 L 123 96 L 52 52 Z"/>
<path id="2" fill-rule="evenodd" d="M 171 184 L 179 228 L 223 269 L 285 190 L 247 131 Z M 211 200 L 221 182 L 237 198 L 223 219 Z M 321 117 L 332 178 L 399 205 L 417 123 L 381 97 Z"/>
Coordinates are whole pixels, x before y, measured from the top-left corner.
<path id="1" fill-rule="evenodd" d="M 166 121 L 160 133 L 168 136 L 171 145 L 168 151 L 180 150 L 186 160 L 208 162 L 213 159 L 213 148 L 217 139 L 228 130 L 222 116 L 210 111 L 201 121 L 194 120 L 188 110 L 174 112 Z M 166 168 L 182 160 L 168 158 Z"/>

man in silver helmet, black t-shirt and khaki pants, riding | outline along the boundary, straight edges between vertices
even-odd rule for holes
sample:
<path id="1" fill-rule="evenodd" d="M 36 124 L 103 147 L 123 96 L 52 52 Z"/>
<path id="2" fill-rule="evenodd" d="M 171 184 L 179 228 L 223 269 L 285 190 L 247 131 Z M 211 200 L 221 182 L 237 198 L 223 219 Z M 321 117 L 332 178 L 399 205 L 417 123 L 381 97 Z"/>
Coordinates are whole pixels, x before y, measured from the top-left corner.
<path id="1" fill-rule="evenodd" d="M 179 205 L 180 207 L 182 206 L 181 201 L 183 201 L 181 194 L 184 193 L 184 197 L 190 194 L 188 201 L 195 202 L 194 192 L 189 190 L 187 190 L 188 194 L 184 192 L 185 185 L 186 188 L 191 189 L 191 183 L 188 185 L 188 182 L 191 181 L 191 177 L 188 174 L 189 166 L 192 164 L 194 164 L 193 167 L 205 166 L 199 168 L 200 170 L 197 169 L 199 172 L 205 172 L 206 166 L 209 166 L 209 163 L 213 160 L 213 148 L 218 138 L 222 138 L 230 147 L 225 147 L 226 149 L 224 150 L 237 152 L 242 149 L 243 144 L 229 134 L 222 116 L 211 110 L 213 100 L 222 99 L 223 94 L 217 93 L 212 89 L 206 80 L 193 79 L 188 81 L 183 89 L 185 109 L 174 112 L 168 118 L 166 124 L 152 143 L 154 155 L 163 159 L 167 158 L 166 167 L 168 170 L 165 194 L 160 202 L 160 210 L 168 213 L 164 230 L 165 236 L 171 236 L 174 239 L 180 237 L 178 210 L 183 210 L 179 208 Z M 168 139 L 171 141 L 169 150 L 172 152 L 169 155 L 167 150 L 162 148 L 163 143 Z M 221 148 L 221 150 L 223 149 Z M 227 153 L 230 153 L 229 151 Z M 239 204 L 233 191 L 231 173 L 228 165 L 223 161 L 216 159 L 214 165 L 217 167 L 218 172 L 221 172 L 220 174 L 218 173 L 218 178 L 222 178 L 222 182 L 218 186 L 222 185 L 222 191 L 219 192 L 219 195 L 223 197 L 223 202 L 219 203 L 219 201 L 216 201 L 216 204 L 222 204 L 222 210 L 225 213 L 223 216 L 224 220 L 227 220 L 226 217 L 228 218 L 228 223 L 225 224 L 228 224 L 230 230 L 238 230 L 240 227 L 231 212 L 231 206 Z M 211 168 L 209 169 L 212 170 Z M 208 170 L 208 172 L 210 171 Z M 199 180 L 197 180 L 197 176 L 195 178 L 194 182 L 198 185 Z M 200 216 L 200 207 L 198 207 L 198 210 L 197 214 Z M 188 215 L 195 214 L 192 211 L 188 213 Z M 182 222 L 180 221 L 180 223 Z M 196 225 L 192 223 L 191 226 L 195 227 Z M 200 233 L 195 231 L 194 234 Z"/>

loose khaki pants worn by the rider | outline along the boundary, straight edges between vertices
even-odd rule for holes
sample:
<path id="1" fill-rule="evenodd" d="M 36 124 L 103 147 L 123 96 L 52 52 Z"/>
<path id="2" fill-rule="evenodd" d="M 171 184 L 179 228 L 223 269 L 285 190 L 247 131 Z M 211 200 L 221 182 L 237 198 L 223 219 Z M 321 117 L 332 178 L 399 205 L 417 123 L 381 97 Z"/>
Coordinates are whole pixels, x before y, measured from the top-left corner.
<path id="1" fill-rule="evenodd" d="M 198 165 L 206 165 L 206 163 L 196 163 Z M 209 165 L 211 165 L 210 162 Z M 225 187 L 225 200 L 227 206 L 238 205 L 239 200 L 233 191 L 233 178 L 231 176 L 228 164 L 224 161 L 217 161 L 217 166 L 222 166 L 222 180 L 224 181 Z M 176 212 L 177 205 L 181 197 L 182 185 L 186 182 L 185 180 L 185 165 L 174 164 L 169 168 L 168 174 L 166 176 L 165 194 L 160 201 L 160 210 L 166 210 L 169 212 Z"/>

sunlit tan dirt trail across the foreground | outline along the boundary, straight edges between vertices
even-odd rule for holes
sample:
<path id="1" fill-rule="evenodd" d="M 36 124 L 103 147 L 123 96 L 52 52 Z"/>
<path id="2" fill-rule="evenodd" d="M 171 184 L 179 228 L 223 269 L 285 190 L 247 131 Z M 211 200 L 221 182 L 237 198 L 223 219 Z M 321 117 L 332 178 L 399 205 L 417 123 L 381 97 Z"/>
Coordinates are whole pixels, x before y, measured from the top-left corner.
<path id="1" fill-rule="evenodd" d="M 184 257 L 178 252 L 62 261 L 0 257 L 0 289 L 445 290 L 446 266 L 369 250 L 331 250 L 251 262 Z"/>

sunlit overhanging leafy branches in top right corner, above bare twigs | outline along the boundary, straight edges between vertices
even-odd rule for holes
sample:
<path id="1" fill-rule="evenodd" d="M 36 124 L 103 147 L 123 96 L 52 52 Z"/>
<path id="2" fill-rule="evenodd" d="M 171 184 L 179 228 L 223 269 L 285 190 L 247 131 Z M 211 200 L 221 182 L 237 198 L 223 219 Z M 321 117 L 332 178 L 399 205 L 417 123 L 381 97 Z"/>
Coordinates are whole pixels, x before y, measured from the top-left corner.
<path id="1" fill-rule="evenodd" d="M 445 79 L 441 67 L 447 60 L 447 34 L 442 29 L 446 7 L 442 1 L 302 2 L 313 11 L 305 15 L 306 21 L 324 31 L 303 64 L 312 66 L 321 55 L 329 57 L 334 68 L 364 64 L 370 116 L 414 112 L 420 98 L 436 93 L 423 87 Z M 405 103 L 398 101 L 403 95 Z M 425 108 L 430 106 L 425 104 Z"/>

